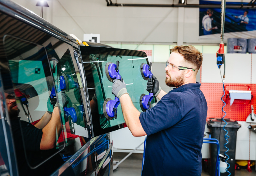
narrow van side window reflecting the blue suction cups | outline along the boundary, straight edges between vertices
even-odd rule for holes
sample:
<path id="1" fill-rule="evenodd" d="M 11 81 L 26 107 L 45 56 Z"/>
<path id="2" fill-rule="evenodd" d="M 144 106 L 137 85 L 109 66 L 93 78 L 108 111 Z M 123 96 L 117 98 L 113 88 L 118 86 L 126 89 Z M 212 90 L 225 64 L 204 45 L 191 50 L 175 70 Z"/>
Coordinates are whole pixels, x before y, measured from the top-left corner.
<path id="1" fill-rule="evenodd" d="M 65 94 L 70 98 L 71 102 L 68 104 L 68 109 L 61 109 L 62 120 L 65 121 L 65 130 L 68 133 L 88 137 L 86 131 L 85 114 L 83 112 L 83 105 L 81 102 L 81 95 L 79 89 L 81 88 L 80 74 L 75 72 L 74 65 L 71 59 L 71 53 L 65 43 L 59 46 L 59 48 L 47 49 L 49 54 L 49 60 L 53 71 L 54 84 L 57 91 L 60 91 L 63 86 L 63 79 L 65 80 Z M 62 50 L 60 50 L 62 48 Z M 66 48 L 63 50 L 63 48 Z M 65 108 L 64 108 L 65 109 Z M 72 116 L 71 110 L 75 110 L 77 116 Z"/>

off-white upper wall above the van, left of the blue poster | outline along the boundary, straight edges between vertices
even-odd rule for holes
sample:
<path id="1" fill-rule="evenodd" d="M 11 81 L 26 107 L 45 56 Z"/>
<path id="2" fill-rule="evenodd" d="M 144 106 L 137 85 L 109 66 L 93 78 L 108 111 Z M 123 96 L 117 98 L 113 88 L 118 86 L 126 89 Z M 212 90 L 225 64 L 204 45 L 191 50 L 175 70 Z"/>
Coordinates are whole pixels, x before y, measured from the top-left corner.
<path id="1" fill-rule="evenodd" d="M 38 0 L 14 0 L 40 15 Z M 237 1 L 240 0 L 229 0 Z M 115 0 L 113 0 L 115 2 Z M 178 0 L 174 1 L 178 3 Z M 198 4 L 199 0 L 189 0 Z M 249 0 L 244 0 L 249 2 Z M 171 7 L 107 7 L 105 0 L 52 0 L 44 18 L 81 40 L 84 33 L 101 34 L 101 42 L 219 43 L 199 40 L 199 9 Z M 118 3 L 170 4 L 171 0 L 118 0 Z M 179 19 L 179 20 L 178 20 Z M 182 22 L 184 21 L 184 22 Z M 181 29 L 183 28 L 183 30 Z M 178 30 L 179 29 L 179 30 Z"/>

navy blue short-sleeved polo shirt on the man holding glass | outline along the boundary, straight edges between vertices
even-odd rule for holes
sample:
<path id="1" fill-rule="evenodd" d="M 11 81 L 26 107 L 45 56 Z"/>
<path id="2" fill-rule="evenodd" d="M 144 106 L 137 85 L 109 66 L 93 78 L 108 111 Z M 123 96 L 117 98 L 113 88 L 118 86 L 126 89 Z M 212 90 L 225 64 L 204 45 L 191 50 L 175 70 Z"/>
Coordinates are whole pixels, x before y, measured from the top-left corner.
<path id="1" fill-rule="evenodd" d="M 207 102 L 200 85 L 173 89 L 140 114 L 148 135 L 142 176 L 201 176 Z"/>

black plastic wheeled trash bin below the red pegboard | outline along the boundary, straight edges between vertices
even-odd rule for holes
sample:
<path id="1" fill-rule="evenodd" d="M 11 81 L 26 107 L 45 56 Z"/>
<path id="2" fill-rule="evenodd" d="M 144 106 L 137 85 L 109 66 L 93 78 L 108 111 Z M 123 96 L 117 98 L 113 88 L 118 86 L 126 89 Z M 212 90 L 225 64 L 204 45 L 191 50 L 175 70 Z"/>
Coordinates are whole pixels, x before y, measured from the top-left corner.
<path id="1" fill-rule="evenodd" d="M 228 171 L 231 173 L 231 176 L 235 176 L 235 155 L 236 155 L 236 143 L 237 143 L 237 130 L 241 127 L 240 124 L 237 123 L 237 121 L 232 119 L 226 119 L 224 120 L 228 123 L 228 125 L 225 126 L 225 129 L 228 131 L 228 136 L 230 138 L 228 139 L 228 144 L 226 147 L 229 148 L 228 152 L 226 153 L 229 155 L 230 159 L 233 159 L 232 161 L 229 159 L 228 164 L 230 164 L 230 168 Z M 221 138 L 219 140 L 219 148 L 220 148 L 220 154 L 224 155 L 224 152 L 227 150 L 224 147 L 224 144 L 226 143 L 226 140 L 224 138 L 224 135 L 226 134 L 226 131 L 223 130 L 223 126 L 226 124 L 224 121 L 222 121 L 221 118 L 208 118 L 207 119 L 207 128 L 209 128 L 211 132 L 212 138 L 215 138 L 219 140 L 219 133 L 221 130 Z M 210 144 L 210 160 L 209 160 L 209 174 L 211 176 L 215 176 L 215 164 L 216 164 L 216 156 L 217 156 L 217 145 Z M 221 173 L 221 176 L 228 176 L 228 173 Z"/>

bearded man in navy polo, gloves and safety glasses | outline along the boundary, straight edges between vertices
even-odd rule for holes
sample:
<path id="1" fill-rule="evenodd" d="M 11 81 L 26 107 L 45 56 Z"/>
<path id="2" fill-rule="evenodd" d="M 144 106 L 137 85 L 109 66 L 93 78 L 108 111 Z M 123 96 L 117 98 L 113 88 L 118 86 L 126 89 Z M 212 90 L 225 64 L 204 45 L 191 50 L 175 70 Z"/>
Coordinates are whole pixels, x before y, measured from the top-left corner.
<path id="1" fill-rule="evenodd" d="M 196 74 L 202 61 L 202 54 L 192 46 L 173 47 L 166 62 L 165 82 L 175 89 L 165 93 L 153 75 L 147 90 L 160 101 L 146 112 L 134 107 L 122 81 L 114 81 L 112 93 L 120 100 L 132 135 L 148 135 L 143 176 L 201 176 L 207 102 Z"/>

